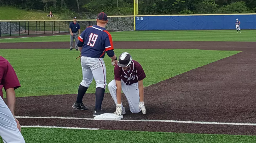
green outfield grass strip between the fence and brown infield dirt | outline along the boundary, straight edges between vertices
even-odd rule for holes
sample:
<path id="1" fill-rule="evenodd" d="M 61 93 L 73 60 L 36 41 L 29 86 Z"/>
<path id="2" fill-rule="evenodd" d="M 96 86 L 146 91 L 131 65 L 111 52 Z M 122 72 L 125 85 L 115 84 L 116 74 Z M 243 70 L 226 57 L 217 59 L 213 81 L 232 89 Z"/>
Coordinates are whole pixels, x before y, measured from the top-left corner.
<path id="1" fill-rule="evenodd" d="M 256 30 L 124 31 L 111 32 L 113 41 L 244 41 L 256 42 Z M 3 42 L 69 42 L 69 35 L 0 39 Z"/>

